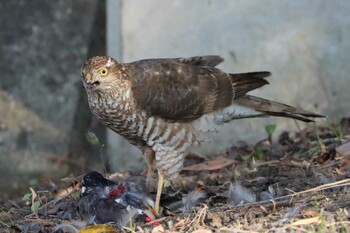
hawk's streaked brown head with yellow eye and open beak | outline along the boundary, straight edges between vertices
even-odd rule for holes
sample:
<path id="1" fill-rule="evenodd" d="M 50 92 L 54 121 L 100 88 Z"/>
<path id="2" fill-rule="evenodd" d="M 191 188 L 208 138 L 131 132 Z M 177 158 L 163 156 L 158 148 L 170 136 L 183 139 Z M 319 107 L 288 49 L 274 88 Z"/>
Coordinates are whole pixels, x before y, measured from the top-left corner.
<path id="1" fill-rule="evenodd" d="M 88 92 L 110 92 L 118 85 L 121 65 L 111 57 L 92 57 L 81 67 L 83 84 Z M 119 79 L 120 80 L 120 79 Z"/>

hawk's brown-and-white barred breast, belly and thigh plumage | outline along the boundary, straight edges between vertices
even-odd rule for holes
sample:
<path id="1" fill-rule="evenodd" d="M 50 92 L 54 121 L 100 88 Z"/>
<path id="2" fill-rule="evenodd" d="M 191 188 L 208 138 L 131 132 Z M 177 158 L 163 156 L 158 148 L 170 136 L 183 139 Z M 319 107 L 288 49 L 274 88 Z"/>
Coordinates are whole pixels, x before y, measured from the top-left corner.
<path id="1" fill-rule="evenodd" d="M 122 135 L 131 144 L 142 149 L 150 147 L 155 152 L 157 169 L 170 180 L 175 180 L 182 169 L 184 157 L 195 141 L 187 124 L 169 122 L 152 117 L 138 109 L 128 85 L 118 92 L 101 98 L 88 92 L 91 111 L 108 128 Z"/>

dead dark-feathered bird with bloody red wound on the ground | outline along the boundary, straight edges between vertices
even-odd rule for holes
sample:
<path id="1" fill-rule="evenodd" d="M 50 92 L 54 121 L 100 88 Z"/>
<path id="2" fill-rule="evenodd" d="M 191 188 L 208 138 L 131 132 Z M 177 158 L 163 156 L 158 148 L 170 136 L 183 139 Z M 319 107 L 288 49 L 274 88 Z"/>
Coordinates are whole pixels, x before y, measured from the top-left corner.
<path id="1" fill-rule="evenodd" d="M 129 219 L 146 217 L 154 220 L 153 208 L 150 195 L 135 182 L 116 183 L 96 171 L 83 177 L 78 210 L 89 224 L 117 222 L 123 225 Z"/>

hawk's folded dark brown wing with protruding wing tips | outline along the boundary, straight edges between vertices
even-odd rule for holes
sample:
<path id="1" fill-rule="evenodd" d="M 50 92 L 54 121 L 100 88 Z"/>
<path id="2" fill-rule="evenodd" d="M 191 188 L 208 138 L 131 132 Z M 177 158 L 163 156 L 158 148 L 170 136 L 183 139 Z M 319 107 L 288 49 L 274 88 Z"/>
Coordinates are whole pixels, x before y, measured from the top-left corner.
<path id="1" fill-rule="evenodd" d="M 267 83 L 263 78 L 268 72 L 227 74 L 213 68 L 221 61 L 206 56 L 129 63 L 135 102 L 151 115 L 189 121 L 227 107 L 237 95 Z"/>

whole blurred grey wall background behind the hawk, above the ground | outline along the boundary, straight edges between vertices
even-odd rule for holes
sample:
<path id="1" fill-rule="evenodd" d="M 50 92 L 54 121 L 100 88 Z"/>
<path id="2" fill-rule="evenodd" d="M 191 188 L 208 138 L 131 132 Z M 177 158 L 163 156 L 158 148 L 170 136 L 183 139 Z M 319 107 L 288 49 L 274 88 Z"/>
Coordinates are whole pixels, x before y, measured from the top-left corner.
<path id="1" fill-rule="evenodd" d="M 350 2 L 347 0 L 17 0 L 0 1 L 0 197 L 91 169 L 146 164 L 140 152 L 92 117 L 80 79 L 89 57 L 121 62 L 215 54 L 229 72 L 268 70 L 253 94 L 334 122 L 349 116 Z M 202 149 L 224 150 L 266 136 L 265 125 L 296 131 L 289 119 L 225 125 Z M 327 124 L 319 121 L 318 124 Z"/>

